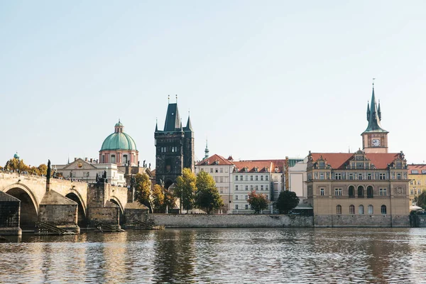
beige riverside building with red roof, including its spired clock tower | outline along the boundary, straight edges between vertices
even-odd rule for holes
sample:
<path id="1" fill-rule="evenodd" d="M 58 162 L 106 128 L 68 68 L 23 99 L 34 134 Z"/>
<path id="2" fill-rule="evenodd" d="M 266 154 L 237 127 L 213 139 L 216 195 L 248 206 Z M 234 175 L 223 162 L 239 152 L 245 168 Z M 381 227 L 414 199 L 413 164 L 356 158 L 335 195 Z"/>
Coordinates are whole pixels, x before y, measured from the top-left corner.
<path id="1" fill-rule="evenodd" d="M 367 121 L 362 151 L 307 157 L 306 201 L 315 226 L 410 226 L 408 165 L 403 152 L 388 153 L 374 89 Z"/>

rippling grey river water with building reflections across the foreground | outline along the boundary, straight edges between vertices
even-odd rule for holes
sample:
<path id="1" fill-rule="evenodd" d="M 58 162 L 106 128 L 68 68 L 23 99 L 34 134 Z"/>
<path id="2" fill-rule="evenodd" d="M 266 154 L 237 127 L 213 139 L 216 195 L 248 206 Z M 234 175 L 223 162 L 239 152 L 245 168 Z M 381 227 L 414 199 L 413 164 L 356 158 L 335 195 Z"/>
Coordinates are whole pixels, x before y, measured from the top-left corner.
<path id="1" fill-rule="evenodd" d="M 0 283 L 426 283 L 426 229 L 165 229 L 7 239 Z"/>

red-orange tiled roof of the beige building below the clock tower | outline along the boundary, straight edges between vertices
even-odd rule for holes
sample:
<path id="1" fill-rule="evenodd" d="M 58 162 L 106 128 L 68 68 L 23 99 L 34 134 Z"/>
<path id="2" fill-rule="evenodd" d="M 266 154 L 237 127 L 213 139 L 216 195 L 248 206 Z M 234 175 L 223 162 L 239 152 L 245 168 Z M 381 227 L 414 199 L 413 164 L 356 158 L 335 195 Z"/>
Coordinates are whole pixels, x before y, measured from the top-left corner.
<path id="1" fill-rule="evenodd" d="M 312 153 L 312 159 L 318 160 L 322 156 L 332 168 L 344 169 L 354 155 L 354 153 Z M 400 153 L 366 153 L 366 158 L 371 160 L 377 169 L 386 169 L 399 155 Z"/>

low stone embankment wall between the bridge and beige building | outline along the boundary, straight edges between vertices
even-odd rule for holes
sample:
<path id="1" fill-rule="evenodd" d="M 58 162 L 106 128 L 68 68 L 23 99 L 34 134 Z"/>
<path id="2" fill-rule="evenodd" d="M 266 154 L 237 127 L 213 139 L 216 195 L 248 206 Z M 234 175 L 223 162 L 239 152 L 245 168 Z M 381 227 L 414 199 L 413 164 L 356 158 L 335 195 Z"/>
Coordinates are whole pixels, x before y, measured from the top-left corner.
<path id="1" fill-rule="evenodd" d="M 313 226 L 313 217 L 267 214 L 149 214 L 148 219 L 166 228 Z"/>

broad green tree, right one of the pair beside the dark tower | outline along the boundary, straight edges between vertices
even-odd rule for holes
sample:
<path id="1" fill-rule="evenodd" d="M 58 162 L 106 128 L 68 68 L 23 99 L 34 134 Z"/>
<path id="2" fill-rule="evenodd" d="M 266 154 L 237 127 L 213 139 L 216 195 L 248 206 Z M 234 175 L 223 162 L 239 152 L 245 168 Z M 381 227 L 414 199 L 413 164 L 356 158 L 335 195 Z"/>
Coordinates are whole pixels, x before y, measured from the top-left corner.
<path id="1" fill-rule="evenodd" d="M 207 214 L 210 214 L 212 210 L 219 209 L 224 206 L 224 202 L 219 195 L 216 183 L 213 177 L 207 172 L 200 172 L 197 175 L 197 194 L 195 198 L 195 205 L 198 208 L 206 209 Z"/>

